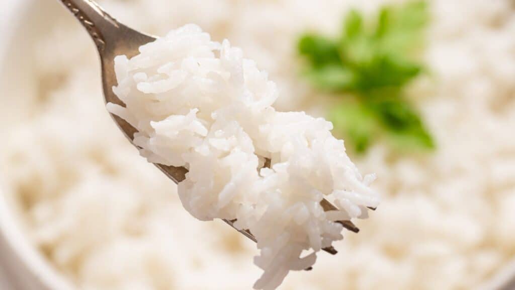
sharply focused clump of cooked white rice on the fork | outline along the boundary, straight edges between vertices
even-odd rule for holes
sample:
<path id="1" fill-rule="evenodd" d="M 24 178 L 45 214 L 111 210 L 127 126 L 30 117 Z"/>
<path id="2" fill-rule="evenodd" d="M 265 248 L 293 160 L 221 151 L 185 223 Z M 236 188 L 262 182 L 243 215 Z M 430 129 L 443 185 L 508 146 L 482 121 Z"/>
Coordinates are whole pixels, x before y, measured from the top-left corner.
<path id="1" fill-rule="evenodd" d="M 288 271 L 312 266 L 317 251 L 342 239 L 335 220 L 377 206 L 373 176 L 358 173 L 332 124 L 272 108 L 276 85 L 229 41 L 186 25 L 140 52 L 116 57 L 113 90 L 126 107 L 108 109 L 139 131 L 134 143 L 149 162 L 189 170 L 179 184 L 188 212 L 237 219 L 254 234 L 264 270 L 255 288 L 275 289 Z M 323 198 L 338 211 L 324 213 Z"/>

